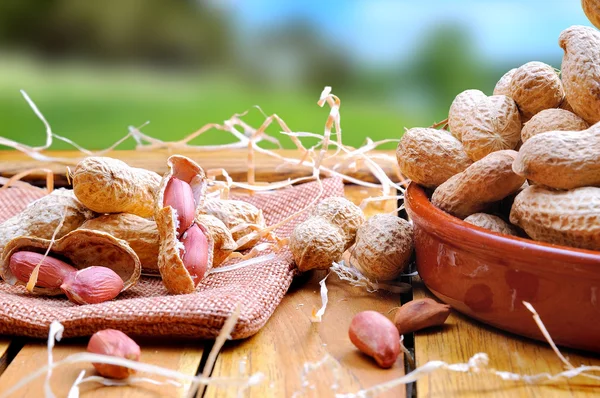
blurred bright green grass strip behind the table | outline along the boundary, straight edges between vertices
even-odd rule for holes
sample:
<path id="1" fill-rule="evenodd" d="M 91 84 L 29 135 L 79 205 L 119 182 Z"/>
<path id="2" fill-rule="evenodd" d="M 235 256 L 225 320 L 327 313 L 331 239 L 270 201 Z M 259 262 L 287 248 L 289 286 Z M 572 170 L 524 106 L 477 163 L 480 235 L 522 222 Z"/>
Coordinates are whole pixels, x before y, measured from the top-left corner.
<path id="1" fill-rule="evenodd" d="M 234 113 L 260 106 L 277 113 L 294 131 L 322 133 L 328 114 L 319 108 L 322 87 L 293 91 L 256 89 L 227 76 L 197 77 L 134 69 L 107 70 L 89 66 L 44 67 L 23 60 L 0 64 L 0 135 L 28 145 L 42 145 L 42 123 L 19 93 L 24 89 L 49 121 L 55 133 L 89 149 L 105 148 L 127 134 L 128 126 L 146 121 L 145 134 L 163 140 L 178 140 L 207 123 L 222 123 Z M 334 90 L 335 92 L 335 90 Z M 373 140 L 400 138 L 407 117 L 384 99 L 367 100 L 359 93 L 339 94 L 342 99 L 344 143 L 361 145 Z M 263 117 L 257 110 L 248 119 L 258 126 Z M 271 134 L 280 129 L 271 127 Z M 193 143 L 231 142 L 229 134 L 211 131 Z M 282 137 L 286 147 L 289 139 Z M 134 147 L 132 140 L 120 149 Z M 386 146 L 393 148 L 394 144 Z M 55 141 L 53 149 L 70 149 Z"/>

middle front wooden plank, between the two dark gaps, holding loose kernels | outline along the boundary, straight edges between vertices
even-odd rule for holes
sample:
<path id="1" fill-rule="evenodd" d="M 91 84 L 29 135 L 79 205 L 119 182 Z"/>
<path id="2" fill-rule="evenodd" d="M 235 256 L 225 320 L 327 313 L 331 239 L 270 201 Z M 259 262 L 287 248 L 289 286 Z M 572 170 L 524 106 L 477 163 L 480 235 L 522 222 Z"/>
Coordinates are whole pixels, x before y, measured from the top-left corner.
<path id="1" fill-rule="evenodd" d="M 346 187 L 346 196 L 356 203 L 376 190 Z M 393 200 L 371 203 L 366 214 L 381 211 L 393 212 Z M 213 370 L 213 376 L 250 375 L 263 372 L 265 381 L 251 387 L 248 397 L 330 397 L 334 393 L 356 392 L 374 384 L 382 383 L 404 374 L 403 358 L 399 357 L 392 369 L 383 370 L 360 354 L 348 338 L 348 327 L 352 317 L 360 311 L 374 310 L 387 313 L 400 303 L 399 295 L 368 293 L 354 288 L 337 276 L 327 279 L 329 305 L 322 323 L 311 323 L 313 308 L 321 306 L 319 281 L 324 271 L 308 273 L 297 278 L 282 303 L 267 325 L 258 334 L 245 341 L 232 342 L 225 346 Z M 301 374 L 306 363 L 322 360 L 327 354 L 333 361 L 307 374 Z M 338 390 L 332 389 L 338 372 Z M 303 381 L 307 385 L 303 387 Z M 209 387 L 206 397 L 235 396 L 234 388 Z M 405 388 L 396 388 L 379 397 L 403 397 Z"/>

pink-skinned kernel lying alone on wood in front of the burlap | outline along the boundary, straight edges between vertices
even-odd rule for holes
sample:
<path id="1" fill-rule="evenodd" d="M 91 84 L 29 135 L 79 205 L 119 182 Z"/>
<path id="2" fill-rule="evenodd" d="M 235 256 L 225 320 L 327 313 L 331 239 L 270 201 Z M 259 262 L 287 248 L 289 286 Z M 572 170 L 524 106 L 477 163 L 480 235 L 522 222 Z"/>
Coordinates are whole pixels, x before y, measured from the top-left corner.
<path id="1" fill-rule="evenodd" d="M 114 329 L 105 329 L 94 333 L 90 337 L 87 350 L 92 354 L 109 355 L 132 361 L 139 361 L 141 354 L 140 346 L 135 341 L 125 333 Z M 135 373 L 134 369 L 124 366 L 106 363 L 92 363 L 92 365 L 101 376 L 111 379 L 126 379 Z"/>

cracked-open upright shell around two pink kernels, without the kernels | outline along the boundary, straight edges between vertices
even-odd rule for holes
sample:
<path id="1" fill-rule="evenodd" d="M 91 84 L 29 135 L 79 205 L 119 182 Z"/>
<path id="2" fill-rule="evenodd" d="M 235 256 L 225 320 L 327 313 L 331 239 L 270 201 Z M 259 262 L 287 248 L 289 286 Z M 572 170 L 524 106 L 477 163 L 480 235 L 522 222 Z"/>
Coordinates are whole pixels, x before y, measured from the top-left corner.
<path id="1" fill-rule="evenodd" d="M 183 243 L 177 231 L 177 212 L 171 206 L 164 206 L 164 193 L 171 177 L 187 182 L 192 187 L 197 205 L 204 202 L 206 177 L 204 170 L 193 160 L 180 155 L 173 155 L 167 160 L 168 171 L 163 176 L 156 195 L 154 220 L 158 228 L 160 248 L 158 252 L 158 269 L 167 290 L 170 293 L 192 293 L 199 282 L 194 280 L 183 262 Z M 206 227 L 198 224 L 208 239 L 208 264 L 206 273 L 212 268 L 214 242 Z M 204 275 L 206 275 L 206 273 Z M 196 283 L 195 283 L 196 282 Z"/>

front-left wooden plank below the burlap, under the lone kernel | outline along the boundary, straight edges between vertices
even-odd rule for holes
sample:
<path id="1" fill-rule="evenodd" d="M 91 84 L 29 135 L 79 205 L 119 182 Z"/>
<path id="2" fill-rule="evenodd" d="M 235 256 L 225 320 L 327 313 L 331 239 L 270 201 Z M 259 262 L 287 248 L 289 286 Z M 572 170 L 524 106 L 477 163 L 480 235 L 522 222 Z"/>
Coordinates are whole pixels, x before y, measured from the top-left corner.
<path id="1" fill-rule="evenodd" d="M 138 340 L 138 339 L 136 339 Z M 200 365 L 203 353 L 201 342 L 180 343 L 175 341 L 151 342 L 139 339 L 142 348 L 141 361 L 165 368 L 178 370 L 180 372 L 195 375 Z M 86 342 L 82 340 L 66 343 L 57 343 L 55 346 L 54 360 L 59 361 L 71 354 L 85 351 Z M 36 371 L 47 363 L 48 351 L 45 342 L 26 344 L 10 363 L 4 374 L 0 376 L 0 392 L 6 391 L 15 385 L 24 376 Z M 51 385 L 58 397 L 66 397 L 73 382 L 79 373 L 85 370 L 86 376 L 94 375 L 95 370 L 89 363 L 70 364 L 57 368 L 52 375 Z M 160 376 L 147 376 L 156 380 L 164 380 Z M 10 398 L 38 398 L 43 396 L 43 383 L 45 376 L 37 378 L 24 388 L 10 395 Z M 135 387 L 106 387 L 96 383 L 86 383 L 80 387 L 85 398 L 100 398 L 110 395 L 119 398 L 141 398 L 141 397 L 184 397 L 187 384 L 183 387 L 171 385 L 156 386 L 148 383 Z M 85 392 L 85 394 L 83 394 Z"/>

